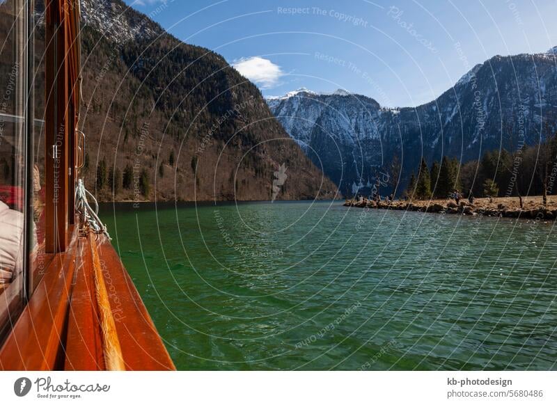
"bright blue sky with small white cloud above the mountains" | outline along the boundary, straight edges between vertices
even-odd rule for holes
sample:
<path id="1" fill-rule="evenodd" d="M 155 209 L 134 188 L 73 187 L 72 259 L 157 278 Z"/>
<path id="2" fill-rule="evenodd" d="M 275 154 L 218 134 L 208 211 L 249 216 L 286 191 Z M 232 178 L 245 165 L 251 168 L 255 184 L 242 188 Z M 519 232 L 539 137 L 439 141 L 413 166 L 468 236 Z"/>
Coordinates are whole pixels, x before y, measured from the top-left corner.
<path id="1" fill-rule="evenodd" d="M 496 54 L 557 45 L 556 0 L 125 1 L 223 55 L 264 95 L 343 88 L 416 106 Z"/>

